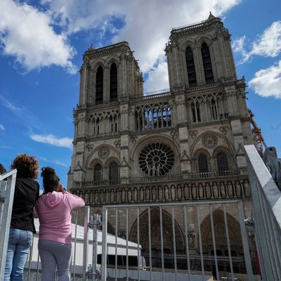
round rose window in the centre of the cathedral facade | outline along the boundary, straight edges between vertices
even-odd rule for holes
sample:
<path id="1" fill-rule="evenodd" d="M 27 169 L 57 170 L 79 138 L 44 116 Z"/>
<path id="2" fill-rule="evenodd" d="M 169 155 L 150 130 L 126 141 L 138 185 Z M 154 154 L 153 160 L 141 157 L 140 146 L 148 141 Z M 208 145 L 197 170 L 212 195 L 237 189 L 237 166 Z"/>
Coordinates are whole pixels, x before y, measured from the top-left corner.
<path id="1" fill-rule="evenodd" d="M 174 151 L 164 143 L 150 143 L 141 150 L 138 157 L 138 166 L 148 176 L 164 176 L 174 164 Z"/>

